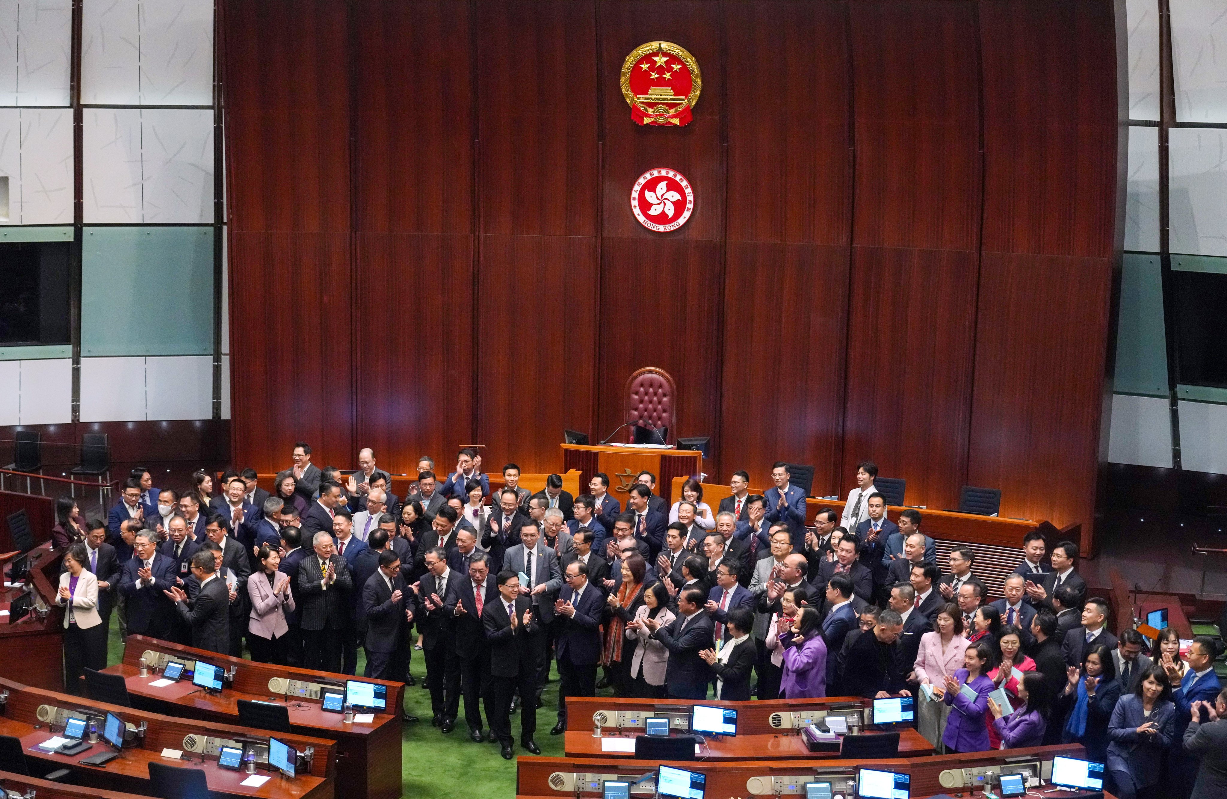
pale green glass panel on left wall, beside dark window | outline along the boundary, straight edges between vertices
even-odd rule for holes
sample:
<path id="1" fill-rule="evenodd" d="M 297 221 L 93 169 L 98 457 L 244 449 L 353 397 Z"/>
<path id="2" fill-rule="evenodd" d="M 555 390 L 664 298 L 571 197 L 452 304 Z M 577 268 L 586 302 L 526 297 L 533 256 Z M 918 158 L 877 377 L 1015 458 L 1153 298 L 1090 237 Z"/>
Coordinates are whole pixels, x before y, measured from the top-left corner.
<path id="1" fill-rule="evenodd" d="M 212 355 L 212 227 L 86 227 L 81 355 Z"/>

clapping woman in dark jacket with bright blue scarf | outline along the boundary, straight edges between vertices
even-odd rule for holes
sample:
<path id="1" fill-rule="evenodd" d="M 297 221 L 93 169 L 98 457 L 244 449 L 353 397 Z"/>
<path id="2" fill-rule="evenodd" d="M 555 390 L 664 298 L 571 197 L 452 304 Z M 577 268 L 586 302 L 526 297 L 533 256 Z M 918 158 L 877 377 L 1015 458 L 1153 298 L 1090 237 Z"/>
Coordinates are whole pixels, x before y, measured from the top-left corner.
<path id="1" fill-rule="evenodd" d="M 1069 684 L 1058 697 L 1053 722 L 1064 719 L 1061 743 L 1082 744 L 1086 756 L 1104 762 L 1108 756 L 1108 722 L 1120 698 L 1117 660 L 1102 643 L 1082 653 L 1082 668 L 1069 669 Z"/>

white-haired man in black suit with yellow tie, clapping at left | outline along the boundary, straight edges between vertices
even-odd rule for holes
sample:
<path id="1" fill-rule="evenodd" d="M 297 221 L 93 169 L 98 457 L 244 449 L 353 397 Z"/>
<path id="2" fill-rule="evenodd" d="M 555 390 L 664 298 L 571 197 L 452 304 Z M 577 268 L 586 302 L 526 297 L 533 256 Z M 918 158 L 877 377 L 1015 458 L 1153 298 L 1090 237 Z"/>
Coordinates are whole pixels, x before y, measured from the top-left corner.
<path id="1" fill-rule="evenodd" d="M 303 660 L 308 669 L 340 671 L 341 636 L 352 625 L 353 577 L 346 560 L 334 551 L 330 533 L 317 533 L 312 547 L 314 555 L 298 565 Z"/>

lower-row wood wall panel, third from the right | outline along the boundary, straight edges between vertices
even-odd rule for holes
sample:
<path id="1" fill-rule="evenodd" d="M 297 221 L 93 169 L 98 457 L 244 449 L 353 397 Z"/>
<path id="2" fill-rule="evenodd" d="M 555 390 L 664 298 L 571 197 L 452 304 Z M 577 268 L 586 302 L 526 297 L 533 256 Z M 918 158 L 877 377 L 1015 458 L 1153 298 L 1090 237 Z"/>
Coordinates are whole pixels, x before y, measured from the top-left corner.
<path id="1" fill-rule="evenodd" d="M 774 461 L 812 464 L 814 493 L 827 495 L 843 436 L 848 248 L 729 242 L 728 258 L 721 479 L 746 469 L 769 486 Z"/>

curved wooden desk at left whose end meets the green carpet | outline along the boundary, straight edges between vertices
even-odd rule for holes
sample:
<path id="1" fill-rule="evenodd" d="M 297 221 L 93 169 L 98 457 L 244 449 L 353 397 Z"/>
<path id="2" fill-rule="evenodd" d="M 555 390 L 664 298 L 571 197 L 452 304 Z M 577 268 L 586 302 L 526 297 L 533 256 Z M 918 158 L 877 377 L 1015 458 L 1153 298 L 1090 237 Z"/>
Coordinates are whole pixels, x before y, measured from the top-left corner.
<path id="1" fill-rule="evenodd" d="M 227 686 L 220 695 L 198 691 L 185 680 L 164 687 L 152 687 L 150 684 L 160 675 L 150 671 L 148 676 L 142 677 L 139 669 L 141 655 L 150 649 L 190 659 L 200 658 L 222 669 L 233 665 L 238 669 L 234 673 L 234 684 Z M 283 695 L 274 695 L 269 690 L 271 677 L 326 680 L 344 685 L 345 680 L 352 679 L 350 675 L 255 663 L 144 636 L 129 636 L 124 646 L 123 663 L 106 671 L 123 676 L 128 682 L 129 693 L 140 697 L 139 701 L 142 703 L 150 703 L 155 709 L 173 716 L 184 714 L 223 724 L 238 724 L 238 700 L 286 704 L 293 731 L 336 741 L 339 755 L 336 778 L 346 785 L 347 792 L 369 799 L 395 799 L 401 795 L 401 720 L 398 713 L 377 713 L 369 723 L 346 723 L 341 713 L 323 711 L 319 700 L 293 698 L 287 702 Z M 402 707 L 404 682 L 361 679 L 388 689 L 389 708 Z"/>

